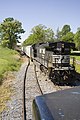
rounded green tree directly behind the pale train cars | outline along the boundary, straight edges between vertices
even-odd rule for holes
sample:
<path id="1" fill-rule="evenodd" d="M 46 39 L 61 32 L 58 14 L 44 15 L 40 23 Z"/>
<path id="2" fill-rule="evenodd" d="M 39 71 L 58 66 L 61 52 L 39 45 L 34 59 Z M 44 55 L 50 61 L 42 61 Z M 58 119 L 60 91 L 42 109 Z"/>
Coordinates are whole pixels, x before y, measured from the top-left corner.
<path id="1" fill-rule="evenodd" d="M 54 32 L 52 29 L 47 28 L 44 25 L 37 25 L 31 30 L 30 36 L 24 41 L 24 45 L 54 41 Z"/>

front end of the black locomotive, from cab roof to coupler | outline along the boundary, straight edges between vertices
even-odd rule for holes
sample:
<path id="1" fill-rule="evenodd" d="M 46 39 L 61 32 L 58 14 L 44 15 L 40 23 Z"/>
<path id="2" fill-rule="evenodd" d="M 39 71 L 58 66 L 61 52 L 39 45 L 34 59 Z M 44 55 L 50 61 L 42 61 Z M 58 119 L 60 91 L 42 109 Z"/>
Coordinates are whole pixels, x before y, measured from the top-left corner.
<path id="1" fill-rule="evenodd" d="M 75 48 L 74 43 L 68 42 L 55 42 L 49 43 L 49 48 L 46 50 L 52 53 L 52 66 L 49 72 L 49 78 L 54 78 L 57 83 L 71 82 L 74 78 L 75 66 L 74 59 L 71 61 L 70 53 L 71 49 Z M 70 64 L 73 62 L 72 64 Z M 65 81 L 65 82 L 64 82 Z"/>

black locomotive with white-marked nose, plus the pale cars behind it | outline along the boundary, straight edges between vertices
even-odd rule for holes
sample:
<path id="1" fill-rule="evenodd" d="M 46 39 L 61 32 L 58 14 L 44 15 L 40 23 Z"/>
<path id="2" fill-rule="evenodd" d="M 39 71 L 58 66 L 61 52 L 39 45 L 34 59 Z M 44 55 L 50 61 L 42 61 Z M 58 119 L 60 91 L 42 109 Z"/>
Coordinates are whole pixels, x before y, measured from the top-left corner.
<path id="1" fill-rule="evenodd" d="M 75 77 L 75 59 L 70 58 L 72 49 L 74 43 L 59 41 L 33 44 L 24 51 L 52 81 L 63 84 L 71 83 Z"/>

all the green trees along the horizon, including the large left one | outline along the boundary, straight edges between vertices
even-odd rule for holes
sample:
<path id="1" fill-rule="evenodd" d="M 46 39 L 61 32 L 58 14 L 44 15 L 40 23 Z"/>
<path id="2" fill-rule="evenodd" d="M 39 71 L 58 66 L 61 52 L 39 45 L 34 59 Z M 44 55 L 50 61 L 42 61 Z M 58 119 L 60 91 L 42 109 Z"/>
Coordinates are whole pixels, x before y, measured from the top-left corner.
<path id="1" fill-rule="evenodd" d="M 11 17 L 6 18 L 0 23 L 0 45 L 15 49 L 21 39 L 21 34 L 24 32 L 21 22 Z M 57 28 L 56 33 L 54 33 L 51 28 L 39 24 L 32 28 L 30 35 L 23 42 L 23 45 L 32 45 L 48 41 L 73 42 L 76 44 L 76 49 L 80 50 L 80 27 L 77 28 L 76 33 L 73 33 L 70 25 L 64 25 L 61 30 Z"/>

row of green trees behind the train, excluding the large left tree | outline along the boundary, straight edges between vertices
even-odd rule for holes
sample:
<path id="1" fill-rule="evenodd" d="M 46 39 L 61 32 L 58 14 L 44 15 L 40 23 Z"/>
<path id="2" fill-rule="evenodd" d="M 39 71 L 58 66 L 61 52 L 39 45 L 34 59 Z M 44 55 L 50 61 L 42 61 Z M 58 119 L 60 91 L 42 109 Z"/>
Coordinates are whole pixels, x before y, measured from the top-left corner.
<path id="1" fill-rule="evenodd" d="M 23 42 L 23 45 L 31 45 L 48 41 L 73 42 L 76 44 L 76 50 L 80 50 L 80 28 L 77 28 L 77 32 L 73 33 L 70 25 L 64 25 L 61 30 L 57 28 L 55 34 L 51 28 L 47 28 L 45 25 L 39 24 L 32 28 L 31 34 Z"/>

